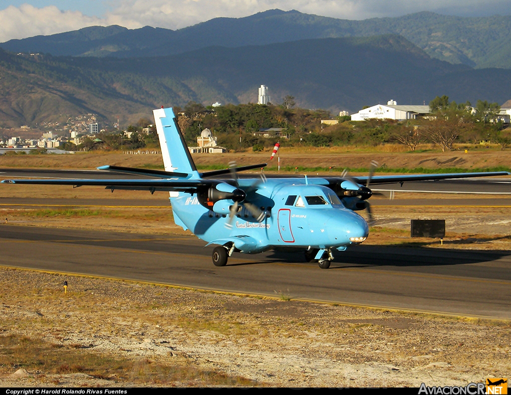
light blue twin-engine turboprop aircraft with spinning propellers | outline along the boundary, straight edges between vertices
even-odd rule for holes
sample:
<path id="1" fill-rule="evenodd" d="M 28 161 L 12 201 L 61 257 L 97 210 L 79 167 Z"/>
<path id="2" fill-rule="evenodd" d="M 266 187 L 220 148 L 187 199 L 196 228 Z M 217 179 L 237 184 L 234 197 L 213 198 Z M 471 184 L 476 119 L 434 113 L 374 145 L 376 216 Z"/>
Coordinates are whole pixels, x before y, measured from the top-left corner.
<path id="1" fill-rule="evenodd" d="M 10 184 L 104 185 L 106 189 L 169 191 L 177 225 L 190 229 L 209 244 L 216 266 L 227 264 L 234 252 L 257 254 L 275 248 L 302 249 L 308 261 L 328 268 L 334 249 L 344 251 L 363 242 L 369 233 L 366 221 L 355 211 L 370 206 L 369 183 L 440 180 L 465 177 L 503 176 L 508 172 L 462 174 L 242 178 L 238 171 L 266 164 L 231 167 L 199 173 L 177 125 L 172 108 L 153 111 L 165 171 L 120 166 L 101 170 L 151 179 L 57 179 L 4 180 Z M 374 168 L 373 168 L 374 169 Z M 218 178 L 229 175 L 224 179 Z M 213 178 L 217 177 L 217 178 Z M 365 184 L 365 185 L 362 185 Z"/>

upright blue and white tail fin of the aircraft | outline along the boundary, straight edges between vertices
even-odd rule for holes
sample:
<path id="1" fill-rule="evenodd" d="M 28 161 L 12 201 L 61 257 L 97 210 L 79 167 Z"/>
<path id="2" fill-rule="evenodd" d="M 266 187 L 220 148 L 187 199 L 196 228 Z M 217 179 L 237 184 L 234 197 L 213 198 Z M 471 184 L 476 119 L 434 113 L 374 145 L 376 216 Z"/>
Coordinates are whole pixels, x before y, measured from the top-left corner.
<path id="1" fill-rule="evenodd" d="M 172 108 L 153 110 L 153 115 L 165 171 L 176 170 L 191 174 L 192 178 L 200 178 Z"/>

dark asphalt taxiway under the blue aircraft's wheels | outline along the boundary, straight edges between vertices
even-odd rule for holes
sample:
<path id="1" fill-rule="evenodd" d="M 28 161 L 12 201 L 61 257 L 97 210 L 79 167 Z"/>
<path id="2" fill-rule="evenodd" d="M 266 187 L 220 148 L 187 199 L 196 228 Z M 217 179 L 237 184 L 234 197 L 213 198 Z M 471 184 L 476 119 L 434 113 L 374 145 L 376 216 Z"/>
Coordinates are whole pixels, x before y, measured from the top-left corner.
<path id="1" fill-rule="evenodd" d="M 188 236 L 0 225 L 3 266 L 142 280 L 283 299 L 511 319 L 511 252 L 355 246 L 331 269 L 303 254 L 234 254 Z M 72 289 L 73 279 L 68 279 Z M 60 284 L 55 284 L 60 286 Z"/>

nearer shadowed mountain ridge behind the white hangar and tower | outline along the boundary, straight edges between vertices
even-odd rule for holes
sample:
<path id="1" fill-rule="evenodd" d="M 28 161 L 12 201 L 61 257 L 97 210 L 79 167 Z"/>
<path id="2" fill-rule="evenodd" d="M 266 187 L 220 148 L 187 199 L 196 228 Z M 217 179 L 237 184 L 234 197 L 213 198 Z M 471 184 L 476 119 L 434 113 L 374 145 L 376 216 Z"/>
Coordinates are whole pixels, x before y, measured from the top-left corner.
<path id="1" fill-rule="evenodd" d="M 131 59 L 0 50 L 0 120 L 19 126 L 92 112 L 110 121 L 120 116 L 126 124 L 161 105 L 190 100 L 253 103 L 261 84 L 269 86 L 272 103 L 290 94 L 299 107 L 353 113 L 390 98 L 427 104 L 443 94 L 457 102 L 503 103 L 511 70 L 474 70 L 432 59 L 397 35 L 215 46 Z"/>

